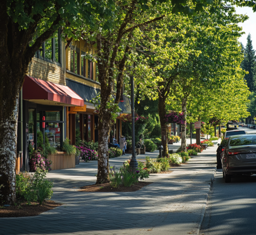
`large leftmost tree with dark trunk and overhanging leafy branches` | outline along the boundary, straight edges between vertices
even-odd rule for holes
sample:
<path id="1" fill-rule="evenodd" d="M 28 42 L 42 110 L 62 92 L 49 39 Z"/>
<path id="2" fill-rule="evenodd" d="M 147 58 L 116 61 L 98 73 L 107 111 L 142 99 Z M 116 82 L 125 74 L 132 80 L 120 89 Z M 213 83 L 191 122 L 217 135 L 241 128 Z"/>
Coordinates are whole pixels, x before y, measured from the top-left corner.
<path id="1" fill-rule="evenodd" d="M 79 38 L 84 23 L 93 27 L 94 12 L 110 19 L 110 8 L 94 0 L 0 2 L 0 185 L 7 204 L 15 201 L 18 96 L 30 61 L 59 28 L 63 37 Z"/>

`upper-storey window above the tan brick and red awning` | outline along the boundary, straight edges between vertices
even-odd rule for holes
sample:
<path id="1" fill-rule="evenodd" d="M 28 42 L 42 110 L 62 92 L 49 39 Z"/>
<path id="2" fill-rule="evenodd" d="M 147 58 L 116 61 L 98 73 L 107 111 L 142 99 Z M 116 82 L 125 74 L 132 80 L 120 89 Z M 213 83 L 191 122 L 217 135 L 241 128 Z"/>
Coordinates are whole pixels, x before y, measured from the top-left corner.
<path id="1" fill-rule="evenodd" d="M 42 44 L 41 48 L 36 52 L 35 57 L 48 62 L 55 62 L 58 66 L 61 66 L 60 29 Z"/>

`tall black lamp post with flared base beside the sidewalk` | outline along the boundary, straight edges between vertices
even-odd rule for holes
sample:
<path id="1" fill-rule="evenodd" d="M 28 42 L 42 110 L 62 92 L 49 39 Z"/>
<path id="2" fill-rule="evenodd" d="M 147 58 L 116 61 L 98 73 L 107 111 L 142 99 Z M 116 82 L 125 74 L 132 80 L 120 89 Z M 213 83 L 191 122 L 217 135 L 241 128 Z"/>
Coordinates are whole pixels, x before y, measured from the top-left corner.
<path id="1" fill-rule="evenodd" d="M 130 161 L 130 166 L 132 167 L 133 171 L 138 168 L 138 162 L 136 159 L 135 153 L 135 126 L 134 126 L 134 77 L 131 76 L 131 103 L 132 103 L 132 159 Z"/>

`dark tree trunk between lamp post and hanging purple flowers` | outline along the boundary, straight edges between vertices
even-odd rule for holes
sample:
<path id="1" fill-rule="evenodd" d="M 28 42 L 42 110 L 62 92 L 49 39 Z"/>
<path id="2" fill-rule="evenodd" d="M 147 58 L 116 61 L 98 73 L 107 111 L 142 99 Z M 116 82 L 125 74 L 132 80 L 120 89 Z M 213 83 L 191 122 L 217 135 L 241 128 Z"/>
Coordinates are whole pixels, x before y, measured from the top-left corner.
<path id="1" fill-rule="evenodd" d="M 163 157 L 168 156 L 168 145 L 167 145 L 167 128 L 165 125 L 165 115 L 166 115 L 166 105 L 165 105 L 165 98 L 161 96 L 159 93 L 158 95 L 158 114 L 160 119 L 161 125 L 161 140 L 163 145 Z"/>

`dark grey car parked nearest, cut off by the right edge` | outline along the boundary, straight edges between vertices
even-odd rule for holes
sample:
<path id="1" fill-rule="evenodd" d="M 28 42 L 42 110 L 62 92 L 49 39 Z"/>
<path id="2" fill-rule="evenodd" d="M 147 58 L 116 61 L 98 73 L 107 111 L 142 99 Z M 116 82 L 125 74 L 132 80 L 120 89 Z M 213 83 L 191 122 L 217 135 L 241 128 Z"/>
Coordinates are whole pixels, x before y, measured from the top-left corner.
<path id="1" fill-rule="evenodd" d="M 256 135 L 238 135 L 228 138 L 221 158 L 225 182 L 234 175 L 256 174 Z"/>

